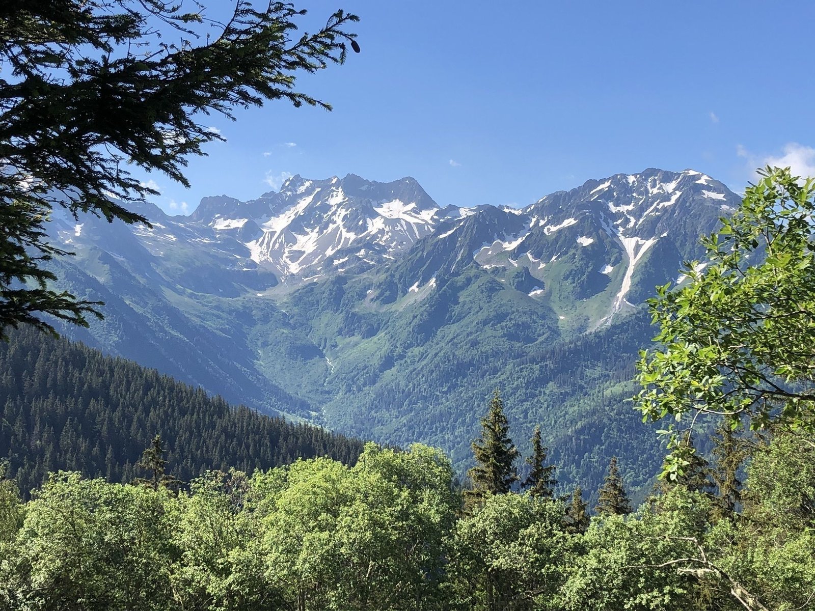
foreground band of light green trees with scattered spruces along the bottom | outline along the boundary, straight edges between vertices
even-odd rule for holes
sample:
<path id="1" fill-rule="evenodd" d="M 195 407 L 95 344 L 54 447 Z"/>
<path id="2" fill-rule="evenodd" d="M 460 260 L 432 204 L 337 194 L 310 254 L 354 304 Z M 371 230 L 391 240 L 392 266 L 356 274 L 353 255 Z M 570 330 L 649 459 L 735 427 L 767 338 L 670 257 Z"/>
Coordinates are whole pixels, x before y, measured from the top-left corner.
<path id="1" fill-rule="evenodd" d="M 741 486 L 747 446 L 720 431 L 711 464 L 634 512 L 612 461 L 588 517 L 579 489 L 553 498 L 535 442 L 526 491 L 509 490 L 502 412 L 496 393 L 466 504 L 450 460 L 419 444 L 209 471 L 180 492 L 155 439 L 132 484 L 55 473 L 22 503 L 0 477 L 0 609 L 815 609 L 811 434 L 757 443 Z"/>

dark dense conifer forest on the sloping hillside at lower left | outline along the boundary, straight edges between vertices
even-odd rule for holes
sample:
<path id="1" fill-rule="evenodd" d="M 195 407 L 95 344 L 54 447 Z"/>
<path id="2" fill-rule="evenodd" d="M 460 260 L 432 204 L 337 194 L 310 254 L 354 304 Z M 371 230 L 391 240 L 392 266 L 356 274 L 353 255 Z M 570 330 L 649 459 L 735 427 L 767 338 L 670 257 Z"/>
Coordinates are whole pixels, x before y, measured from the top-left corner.
<path id="1" fill-rule="evenodd" d="M 362 442 L 292 424 L 29 327 L 0 342 L 0 459 L 27 494 L 60 469 L 131 481 L 156 434 L 171 474 L 252 472 L 300 457 L 353 464 Z"/>

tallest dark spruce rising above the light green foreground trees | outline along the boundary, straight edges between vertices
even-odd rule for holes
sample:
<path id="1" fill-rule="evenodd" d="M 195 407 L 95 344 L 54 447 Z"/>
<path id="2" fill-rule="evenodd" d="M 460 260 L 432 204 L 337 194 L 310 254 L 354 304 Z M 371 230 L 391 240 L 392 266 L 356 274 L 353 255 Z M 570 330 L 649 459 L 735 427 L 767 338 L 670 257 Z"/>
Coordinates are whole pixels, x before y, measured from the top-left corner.
<path id="1" fill-rule="evenodd" d="M 518 448 L 509 438 L 509 424 L 498 389 L 492 393 L 487 415 L 481 419 L 481 437 L 473 442 L 473 454 L 476 466 L 467 472 L 473 490 L 465 493 L 470 501 L 487 494 L 502 495 L 518 481 L 514 466 Z"/>

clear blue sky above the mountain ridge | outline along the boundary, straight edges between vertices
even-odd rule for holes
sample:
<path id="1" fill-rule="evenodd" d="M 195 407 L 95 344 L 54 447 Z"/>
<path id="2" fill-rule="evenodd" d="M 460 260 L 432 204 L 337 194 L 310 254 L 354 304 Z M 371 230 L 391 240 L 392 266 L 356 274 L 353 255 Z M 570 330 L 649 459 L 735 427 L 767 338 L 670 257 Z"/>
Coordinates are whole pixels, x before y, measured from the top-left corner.
<path id="1" fill-rule="evenodd" d="M 241 200 L 289 174 L 416 178 L 438 204 L 525 205 L 589 178 L 694 168 L 741 190 L 767 161 L 815 174 L 815 2 L 297 2 L 353 11 L 362 52 L 284 102 L 207 119 L 226 143 L 156 204 Z"/>

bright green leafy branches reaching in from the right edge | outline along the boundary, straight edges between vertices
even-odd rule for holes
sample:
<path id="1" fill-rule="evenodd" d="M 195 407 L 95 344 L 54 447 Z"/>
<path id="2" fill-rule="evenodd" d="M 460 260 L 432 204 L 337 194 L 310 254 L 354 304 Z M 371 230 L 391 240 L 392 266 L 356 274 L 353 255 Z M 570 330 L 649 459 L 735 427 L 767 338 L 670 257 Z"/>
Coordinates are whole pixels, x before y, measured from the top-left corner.
<path id="1" fill-rule="evenodd" d="M 645 420 L 692 429 L 713 414 L 734 428 L 815 430 L 815 178 L 770 167 L 760 176 L 703 238 L 707 262 L 687 264 L 689 283 L 650 300 L 663 348 L 638 363 Z M 689 463 L 679 439 L 666 463 L 672 478 Z"/>

